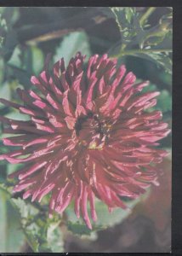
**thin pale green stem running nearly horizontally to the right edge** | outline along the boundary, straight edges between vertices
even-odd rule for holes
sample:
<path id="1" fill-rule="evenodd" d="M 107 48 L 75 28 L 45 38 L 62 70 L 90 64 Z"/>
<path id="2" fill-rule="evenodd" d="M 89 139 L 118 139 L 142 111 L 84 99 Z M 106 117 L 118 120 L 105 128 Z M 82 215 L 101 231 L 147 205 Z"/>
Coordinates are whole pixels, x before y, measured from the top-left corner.
<path id="1" fill-rule="evenodd" d="M 147 54 L 147 53 L 162 53 L 172 52 L 172 49 L 128 49 L 121 51 L 118 55 L 112 55 L 112 58 L 119 58 L 123 55 L 134 55 L 134 54 Z"/>

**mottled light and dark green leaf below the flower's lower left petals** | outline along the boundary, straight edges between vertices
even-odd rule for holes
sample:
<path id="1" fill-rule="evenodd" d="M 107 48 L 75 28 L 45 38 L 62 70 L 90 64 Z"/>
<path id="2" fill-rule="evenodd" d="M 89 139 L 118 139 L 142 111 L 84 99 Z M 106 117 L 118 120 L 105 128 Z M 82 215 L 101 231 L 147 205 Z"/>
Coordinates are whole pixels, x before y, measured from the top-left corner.
<path id="1" fill-rule="evenodd" d="M 19 209 L 21 228 L 26 236 L 26 241 L 35 253 L 62 253 L 63 239 L 60 231 L 60 219 L 48 218 L 47 212 L 39 205 L 20 198 L 12 199 Z"/>

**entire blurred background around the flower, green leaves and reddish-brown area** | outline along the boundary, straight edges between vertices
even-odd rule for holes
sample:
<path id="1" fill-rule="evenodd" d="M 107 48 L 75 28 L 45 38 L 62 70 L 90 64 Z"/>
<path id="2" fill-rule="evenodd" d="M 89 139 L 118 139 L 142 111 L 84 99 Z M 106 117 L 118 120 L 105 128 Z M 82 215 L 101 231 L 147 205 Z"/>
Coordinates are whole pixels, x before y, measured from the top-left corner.
<path id="1" fill-rule="evenodd" d="M 146 90 L 161 92 L 155 108 L 171 127 L 172 32 L 171 8 L 0 8 L 0 97 L 19 102 L 16 89 L 31 88 L 31 75 L 43 70 L 48 54 L 51 64 L 61 57 L 67 64 L 78 50 L 87 55 L 86 61 L 90 55 L 108 53 L 139 80 L 150 80 Z M 3 104 L 0 115 L 26 119 Z M 2 131 L 0 125 L 0 137 Z M 7 152 L 1 141 L 0 146 L 0 154 Z M 161 147 L 171 153 L 171 134 Z M 49 220 L 46 199 L 40 206 L 21 201 L 20 195 L 11 199 L 13 183 L 7 175 L 18 168 L 0 162 L 0 252 L 170 251 L 170 154 L 159 166 L 164 170 L 161 186 L 134 202 L 130 215 L 119 210 L 111 216 L 100 207 L 103 223 L 94 232 L 77 223 L 71 209 L 65 217 Z M 106 230 L 104 219 L 111 223 Z"/>

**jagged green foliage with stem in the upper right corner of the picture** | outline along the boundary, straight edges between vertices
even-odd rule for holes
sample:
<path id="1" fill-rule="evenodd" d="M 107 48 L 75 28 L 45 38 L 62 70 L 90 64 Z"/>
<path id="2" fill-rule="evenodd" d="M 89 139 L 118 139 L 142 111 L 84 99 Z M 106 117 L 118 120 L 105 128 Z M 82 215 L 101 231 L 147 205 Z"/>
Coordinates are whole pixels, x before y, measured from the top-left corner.
<path id="1" fill-rule="evenodd" d="M 155 26 L 146 26 L 145 22 L 156 8 L 146 9 L 145 13 L 135 9 L 111 8 L 117 25 L 122 33 L 122 45 L 111 49 L 113 57 L 134 55 L 163 67 L 172 73 L 172 60 L 168 54 L 172 52 L 172 15 L 162 16 Z M 115 54 L 116 50 L 119 54 Z"/>

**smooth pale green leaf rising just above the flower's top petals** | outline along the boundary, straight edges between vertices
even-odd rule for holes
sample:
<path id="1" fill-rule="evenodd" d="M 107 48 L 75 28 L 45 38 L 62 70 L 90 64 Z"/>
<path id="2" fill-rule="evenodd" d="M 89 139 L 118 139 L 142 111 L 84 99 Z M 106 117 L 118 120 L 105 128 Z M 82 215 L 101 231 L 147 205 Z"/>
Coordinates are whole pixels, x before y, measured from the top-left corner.
<path id="1" fill-rule="evenodd" d="M 64 57 L 65 65 L 68 65 L 77 51 L 81 51 L 82 55 L 87 55 L 86 60 L 91 55 L 88 37 L 85 32 L 71 32 L 68 36 L 65 36 L 55 51 L 54 62 Z"/>

